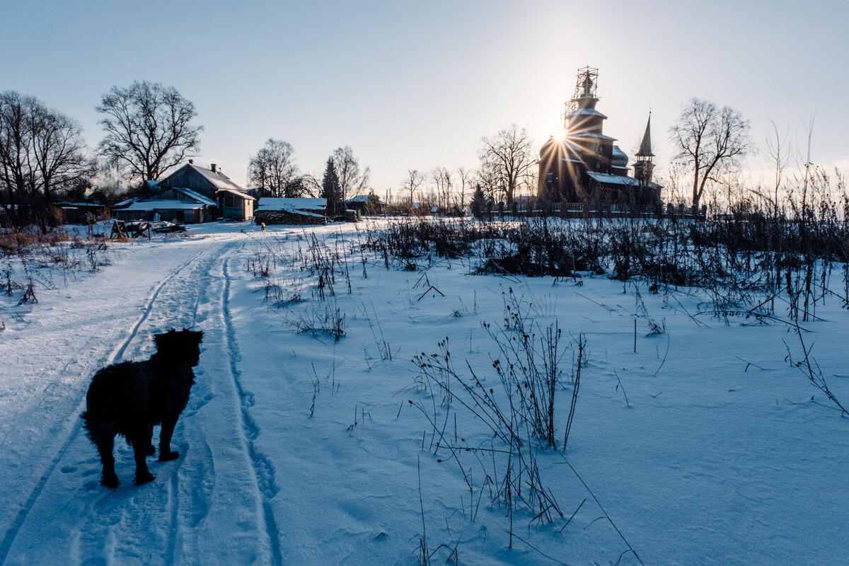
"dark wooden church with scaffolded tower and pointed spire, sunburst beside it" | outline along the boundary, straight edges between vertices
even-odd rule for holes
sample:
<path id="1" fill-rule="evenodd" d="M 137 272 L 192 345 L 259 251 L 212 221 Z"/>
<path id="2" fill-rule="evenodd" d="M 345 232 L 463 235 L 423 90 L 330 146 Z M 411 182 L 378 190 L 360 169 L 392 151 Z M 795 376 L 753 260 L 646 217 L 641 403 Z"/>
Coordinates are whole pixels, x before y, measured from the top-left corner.
<path id="1" fill-rule="evenodd" d="M 607 116 L 596 109 L 599 70 L 578 70 L 575 95 L 566 103 L 565 137 L 554 136 L 540 149 L 538 196 L 547 202 L 600 201 L 627 205 L 661 203 L 661 186 L 652 181 L 651 116 L 628 176 L 628 156 L 604 135 Z"/>

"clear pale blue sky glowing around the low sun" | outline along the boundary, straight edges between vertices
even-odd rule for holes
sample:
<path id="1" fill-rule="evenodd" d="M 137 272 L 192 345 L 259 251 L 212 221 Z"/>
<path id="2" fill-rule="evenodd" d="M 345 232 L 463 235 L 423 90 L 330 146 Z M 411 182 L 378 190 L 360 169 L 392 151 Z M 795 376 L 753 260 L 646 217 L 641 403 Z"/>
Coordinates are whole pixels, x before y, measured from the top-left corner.
<path id="1" fill-rule="evenodd" d="M 176 87 L 205 127 L 196 162 L 243 185 L 268 137 L 319 176 L 350 145 L 380 195 L 408 169 L 475 167 L 481 137 L 511 123 L 541 146 L 563 135 L 585 65 L 629 156 L 652 109 L 661 171 L 691 97 L 738 109 L 761 147 L 772 119 L 805 151 L 814 119 L 813 162 L 849 170 L 845 2 L 0 0 L 0 14 L 0 90 L 80 120 L 94 146 L 110 87 Z"/>

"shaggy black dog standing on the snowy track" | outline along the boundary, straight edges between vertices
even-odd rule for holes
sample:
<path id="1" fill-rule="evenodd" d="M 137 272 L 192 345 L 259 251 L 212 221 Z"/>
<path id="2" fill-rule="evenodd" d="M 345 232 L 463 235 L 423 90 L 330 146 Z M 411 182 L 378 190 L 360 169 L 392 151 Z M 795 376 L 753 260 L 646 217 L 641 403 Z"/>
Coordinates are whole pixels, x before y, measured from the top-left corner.
<path id="1" fill-rule="evenodd" d="M 82 418 L 103 462 L 100 483 L 118 485 L 112 456 L 115 434 L 122 434 L 132 445 L 137 485 L 154 479 L 145 457 L 155 452 L 150 441 L 155 425 L 162 425 L 160 462 L 179 456 L 171 451 L 171 434 L 188 403 L 194 384 L 192 368 L 200 361 L 203 336 L 200 331 L 171 328 L 164 334 L 155 334 L 156 353 L 148 361 L 122 361 L 94 374 Z"/>

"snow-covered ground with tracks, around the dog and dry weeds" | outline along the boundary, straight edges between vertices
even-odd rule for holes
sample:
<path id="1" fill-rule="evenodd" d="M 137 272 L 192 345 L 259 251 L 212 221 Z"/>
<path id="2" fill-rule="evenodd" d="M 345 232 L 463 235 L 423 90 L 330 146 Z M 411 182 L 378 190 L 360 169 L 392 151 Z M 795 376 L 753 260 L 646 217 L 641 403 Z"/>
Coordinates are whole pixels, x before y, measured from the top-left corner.
<path id="1" fill-rule="evenodd" d="M 849 420 L 794 365 L 788 325 L 606 277 L 387 269 L 352 248 L 362 232 L 190 227 L 112 244 L 111 265 L 53 277 L 34 305 L 0 295 L 0 563 L 415 564 L 423 541 L 432 563 L 846 563 Z M 301 269 L 313 236 L 348 263 L 333 294 Z M 436 450 L 444 406 L 412 361 L 447 338 L 457 373 L 498 391 L 482 323 L 509 337 L 505 305 L 562 329 L 559 439 L 586 339 L 566 450 L 537 445 L 551 522 L 491 497 L 505 448 L 456 400 L 444 437 L 482 456 Z M 847 312 L 827 297 L 816 314 L 805 343 L 846 405 Z M 326 322 L 338 341 L 298 331 Z M 150 458 L 156 479 L 136 486 L 119 441 L 110 490 L 79 418 L 88 383 L 171 327 L 205 333 L 180 457 Z"/>

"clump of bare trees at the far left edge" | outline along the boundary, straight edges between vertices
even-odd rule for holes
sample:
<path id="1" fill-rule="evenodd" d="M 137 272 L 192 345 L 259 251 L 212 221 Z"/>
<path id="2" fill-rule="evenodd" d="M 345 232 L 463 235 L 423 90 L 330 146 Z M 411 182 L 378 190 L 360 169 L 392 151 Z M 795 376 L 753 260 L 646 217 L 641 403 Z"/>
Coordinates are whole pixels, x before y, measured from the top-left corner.
<path id="1" fill-rule="evenodd" d="M 95 166 L 82 126 L 40 100 L 18 92 L 0 93 L 0 206 L 23 226 L 52 205 L 56 191 L 85 185 Z"/>

